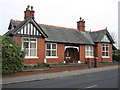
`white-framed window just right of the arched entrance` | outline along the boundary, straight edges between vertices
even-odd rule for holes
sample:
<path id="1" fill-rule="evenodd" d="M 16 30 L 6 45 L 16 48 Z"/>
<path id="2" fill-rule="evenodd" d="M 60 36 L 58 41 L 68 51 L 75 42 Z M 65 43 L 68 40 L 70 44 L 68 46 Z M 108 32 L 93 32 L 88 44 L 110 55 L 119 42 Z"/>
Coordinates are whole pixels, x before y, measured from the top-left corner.
<path id="1" fill-rule="evenodd" d="M 90 48 L 92 48 L 92 50 Z M 90 53 L 92 53 L 92 55 L 90 55 Z M 85 46 L 85 57 L 86 58 L 94 58 L 94 48 L 92 45 Z"/>

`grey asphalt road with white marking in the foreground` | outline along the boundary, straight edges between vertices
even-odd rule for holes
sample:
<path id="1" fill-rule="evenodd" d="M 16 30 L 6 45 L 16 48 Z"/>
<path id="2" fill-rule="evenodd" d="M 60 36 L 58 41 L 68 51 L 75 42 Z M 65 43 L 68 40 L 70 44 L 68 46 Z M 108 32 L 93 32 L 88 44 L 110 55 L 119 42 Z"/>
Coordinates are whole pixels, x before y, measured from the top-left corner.
<path id="1" fill-rule="evenodd" d="M 118 69 L 96 73 L 3 85 L 3 88 L 118 88 Z"/>

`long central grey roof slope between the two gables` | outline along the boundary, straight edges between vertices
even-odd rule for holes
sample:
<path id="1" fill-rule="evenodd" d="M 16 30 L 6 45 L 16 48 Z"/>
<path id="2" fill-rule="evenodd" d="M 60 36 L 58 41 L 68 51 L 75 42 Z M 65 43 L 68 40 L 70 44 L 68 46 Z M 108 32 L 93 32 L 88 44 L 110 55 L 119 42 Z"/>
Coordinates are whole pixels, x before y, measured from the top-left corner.
<path id="1" fill-rule="evenodd" d="M 47 34 L 46 41 L 74 43 L 74 44 L 94 44 L 90 39 L 91 36 L 87 32 L 72 30 L 69 28 L 60 28 L 47 25 L 40 25 L 43 31 Z"/>

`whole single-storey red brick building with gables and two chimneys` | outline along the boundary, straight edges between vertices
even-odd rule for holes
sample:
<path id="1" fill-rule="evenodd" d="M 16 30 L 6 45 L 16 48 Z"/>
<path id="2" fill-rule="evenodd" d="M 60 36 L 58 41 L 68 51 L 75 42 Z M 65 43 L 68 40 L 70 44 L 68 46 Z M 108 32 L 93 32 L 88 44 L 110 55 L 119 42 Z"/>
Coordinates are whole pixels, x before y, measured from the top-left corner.
<path id="1" fill-rule="evenodd" d="M 114 41 L 107 29 L 85 31 L 82 18 L 77 22 L 77 29 L 38 24 L 33 7 L 29 8 L 24 12 L 24 21 L 11 20 L 5 33 L 26 52 L 24 64 L 81 63 L 95 58 L 112 61 Z"/>

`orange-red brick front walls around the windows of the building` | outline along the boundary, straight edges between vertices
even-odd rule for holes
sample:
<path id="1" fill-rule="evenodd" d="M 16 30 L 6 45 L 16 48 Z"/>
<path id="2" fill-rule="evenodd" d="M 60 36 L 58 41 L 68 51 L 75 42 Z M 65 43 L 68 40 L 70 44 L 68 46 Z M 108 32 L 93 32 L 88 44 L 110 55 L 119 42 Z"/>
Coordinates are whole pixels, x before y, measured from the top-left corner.
<path id="1" fill-rule="evenodd" d="M 19 36 L 13 36 L 13 40 L 15 40 L 19 45 L 22 45 L 22 37 Z M 80 53 L 79 53 L 79 59 L 81 62 L 87 61 L 85 58 L 85 45 L 80 45 Z M 98 57 L 99 61 L 112 61 L 112 44 L 109 44 L 109 56 L 110 58 L 102 58 L 102 44 L 98 43 L 94 47 L 94 56 Z M 38 58 L 32 58 L 32 59 L 25 59 L 24 64 L 37 64 L 37 63 L 43 63 L 45 58 L 45 40 L 43 38 L 37 39 L 37 57 Z M 64 44 L 57 44 L 57 56 L 58 58 L 47 58 L 47 63 L 59 63 L 64 62 L 65 59 L 65 51 L 64 51 Z M 91 59 L 92 61 L 94 59 Z"/>

